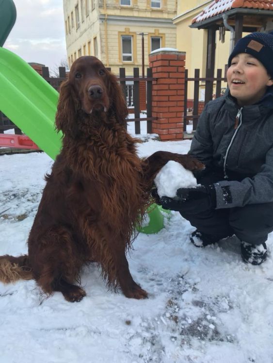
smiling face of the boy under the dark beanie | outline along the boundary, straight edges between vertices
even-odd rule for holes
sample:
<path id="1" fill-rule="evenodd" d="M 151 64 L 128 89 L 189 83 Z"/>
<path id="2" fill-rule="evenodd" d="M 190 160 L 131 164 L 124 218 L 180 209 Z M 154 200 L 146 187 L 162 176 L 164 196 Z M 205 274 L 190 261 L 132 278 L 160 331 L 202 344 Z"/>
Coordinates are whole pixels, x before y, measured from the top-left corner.
<path id="1" fill-rule="evenodd" d="M 239 106 L 254 105 L 273 85 L 271 76 L 260 61 L 247 53 L 240 53 L 231 61 L 226 73 L 230 94 Z"/>

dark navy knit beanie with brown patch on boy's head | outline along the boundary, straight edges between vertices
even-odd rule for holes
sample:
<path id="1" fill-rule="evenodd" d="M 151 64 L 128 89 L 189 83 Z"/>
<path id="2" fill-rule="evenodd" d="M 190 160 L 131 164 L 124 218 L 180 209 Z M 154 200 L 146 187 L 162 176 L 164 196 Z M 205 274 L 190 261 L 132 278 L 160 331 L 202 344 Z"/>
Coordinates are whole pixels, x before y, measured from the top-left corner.
<path id="1" fill-rule="evenodd" d="M 240 53 L 248 53 L 257 58 L 273 77 L 273 31 L 270 33 L 256 31 L 241 38 L 228 58 L 229 67 L 232 59 Z"/>

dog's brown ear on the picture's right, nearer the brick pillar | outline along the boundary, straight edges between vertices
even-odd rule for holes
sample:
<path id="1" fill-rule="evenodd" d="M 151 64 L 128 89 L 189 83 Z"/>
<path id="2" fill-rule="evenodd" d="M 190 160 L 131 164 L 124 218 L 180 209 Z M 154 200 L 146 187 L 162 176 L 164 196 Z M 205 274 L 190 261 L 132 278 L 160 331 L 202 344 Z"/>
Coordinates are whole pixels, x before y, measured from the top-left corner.
<path id="1" fill-rule="evenodd" d="M 110 110 L 115 115 L 116 120 L 125 126 L 128 117 L 128 107 L 123 91 L 118 84 L 116 77 L 111 72 L 107 72 L 110 83 Z"/>

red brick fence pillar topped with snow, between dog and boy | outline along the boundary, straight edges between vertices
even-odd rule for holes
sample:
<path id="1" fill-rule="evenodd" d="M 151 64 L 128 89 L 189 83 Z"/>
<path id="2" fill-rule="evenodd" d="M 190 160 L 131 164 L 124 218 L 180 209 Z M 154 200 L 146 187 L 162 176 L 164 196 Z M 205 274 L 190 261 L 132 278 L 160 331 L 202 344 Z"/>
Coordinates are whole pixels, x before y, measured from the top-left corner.
<path id="1" fill-rule="evenodd" d="M 152 68 L 153 100 L 152 132 L 161 140 L 183 139 L 183 111 L 185 101 L 185 52 L 177 49 L 161 48 L 149 55 L 149 67 Z"/>

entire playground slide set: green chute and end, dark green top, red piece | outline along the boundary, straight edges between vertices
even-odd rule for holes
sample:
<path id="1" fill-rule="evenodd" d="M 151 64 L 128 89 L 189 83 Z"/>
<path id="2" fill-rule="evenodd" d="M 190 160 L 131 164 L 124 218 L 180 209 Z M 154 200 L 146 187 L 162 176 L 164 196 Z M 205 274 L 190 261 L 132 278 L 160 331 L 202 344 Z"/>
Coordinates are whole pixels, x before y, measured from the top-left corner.
<path id="1" fill-rule="evenodd" d="M 0 0 L 0 110 L 27 135 L 0 134 L 0 146 L 41 149 L 55 160 L 62 145 L 62 133 L 54 127 L 59 93 L 26 61 L 3 48 L 15 22 L 13 0 Z M 147 214 L 149 223 L 140 231 L 159 232 L 164 227 L 159 207 L 152 204 Z"/>

